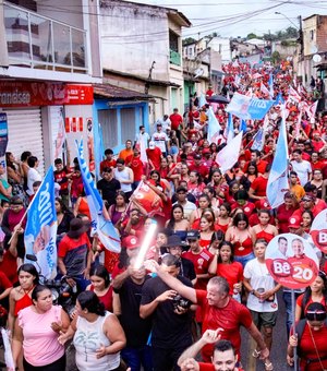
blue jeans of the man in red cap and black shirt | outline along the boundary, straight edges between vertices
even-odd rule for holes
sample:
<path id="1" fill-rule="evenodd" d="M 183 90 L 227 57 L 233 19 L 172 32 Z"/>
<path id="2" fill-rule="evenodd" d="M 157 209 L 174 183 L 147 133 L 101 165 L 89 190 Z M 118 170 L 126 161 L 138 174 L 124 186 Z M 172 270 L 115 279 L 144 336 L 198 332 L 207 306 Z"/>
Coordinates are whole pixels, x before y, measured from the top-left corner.
<path id="1" fill-rule="evenodd" d="M 141 366 L 143 366 L 144 371 L 153 371 L 154 369 L 152 348 L 147 345 L 138 348 L 126 347 L 120 354 L 131 371 L 141 371 Z"/>

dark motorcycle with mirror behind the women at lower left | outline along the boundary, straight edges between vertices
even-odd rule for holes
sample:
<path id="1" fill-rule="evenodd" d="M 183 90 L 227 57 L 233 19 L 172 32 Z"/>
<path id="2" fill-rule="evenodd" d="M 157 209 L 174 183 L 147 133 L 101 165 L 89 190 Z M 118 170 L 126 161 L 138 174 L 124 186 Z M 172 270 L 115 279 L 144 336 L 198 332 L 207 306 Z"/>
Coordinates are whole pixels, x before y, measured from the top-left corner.
<path id="1" fill-rule="evenodd" d="M 41 285 L 49 287 L 52 295 L 53 304 L 61 306 L 62 309 L 72 319 L 72 314 L 75 311 L 75 303 L 77 297 L 76 286 L 72 287 L 68 284 L 70 276 L 62 276 L 61 278 L 48 279 L 41 274 L 41 268 L 37 262 L 37 258 L 32 254 L 26 254 L 26 259 L 34 262 L 38 267 L 39 282 Z"/>

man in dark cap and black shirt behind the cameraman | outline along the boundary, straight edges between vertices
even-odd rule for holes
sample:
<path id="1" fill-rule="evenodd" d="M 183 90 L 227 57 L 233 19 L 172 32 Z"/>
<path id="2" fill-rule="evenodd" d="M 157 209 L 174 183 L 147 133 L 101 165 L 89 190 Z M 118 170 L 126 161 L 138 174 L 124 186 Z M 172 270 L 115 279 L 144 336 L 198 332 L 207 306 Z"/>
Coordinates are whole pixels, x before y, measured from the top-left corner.
<path id="1" fill-rule="evenodd" d="M 162 248 L 166 248 L 169 254 L 177 256 L 180 260 L 180 275 L 189 278 L 192 284 L 195 285 L 196 274 L 194 265 L 189 259 L 182 256 L 183 246 L 181 238 L 177 235 L 172 235 L 168 237 L 167 243 L 164 244 Z"/>

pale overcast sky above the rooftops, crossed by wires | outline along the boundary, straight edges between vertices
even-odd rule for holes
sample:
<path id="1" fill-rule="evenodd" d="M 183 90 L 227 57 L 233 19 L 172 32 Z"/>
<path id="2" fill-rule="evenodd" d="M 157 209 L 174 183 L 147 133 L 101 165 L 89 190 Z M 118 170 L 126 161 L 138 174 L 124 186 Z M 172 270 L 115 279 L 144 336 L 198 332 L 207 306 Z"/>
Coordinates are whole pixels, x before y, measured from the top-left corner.
<path id="1" fill-rule="evenodd" d="M 299 15 L 327 15 L 327 0 L 132 0 L 173 8 L 192 23 L 183 37 L 199 38 L 217 32 L 223 37 L 262 36 L 289 26 L 299 28 Z M 276 14 L 280 12 L 281 14 Z"/>

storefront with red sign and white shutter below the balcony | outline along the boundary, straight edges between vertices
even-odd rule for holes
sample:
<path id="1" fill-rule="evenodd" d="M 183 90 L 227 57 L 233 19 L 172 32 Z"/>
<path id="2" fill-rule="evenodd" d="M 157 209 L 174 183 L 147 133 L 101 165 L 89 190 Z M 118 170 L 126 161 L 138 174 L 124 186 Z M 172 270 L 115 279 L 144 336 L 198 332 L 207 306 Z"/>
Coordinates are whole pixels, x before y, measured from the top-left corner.
<path id="1" fill-rule="evenodd" d="M 92 85 L 0 81 L 0 111 L 8 120 L 7 152 L 19 159 L 29 151 L 39 159 L 43 175 L 56 157 L 71 164 L 74 140 L 86 137 L 92 105 Z"/>

